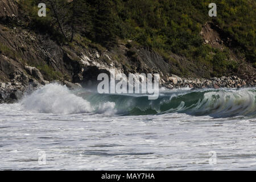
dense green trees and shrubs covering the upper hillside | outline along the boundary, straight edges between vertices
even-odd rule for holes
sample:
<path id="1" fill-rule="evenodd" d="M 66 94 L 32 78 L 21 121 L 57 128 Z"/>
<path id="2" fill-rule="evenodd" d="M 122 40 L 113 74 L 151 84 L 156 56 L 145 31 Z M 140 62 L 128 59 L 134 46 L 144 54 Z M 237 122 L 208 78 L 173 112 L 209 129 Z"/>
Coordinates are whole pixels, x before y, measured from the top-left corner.
<path id="1" fill-rule="evenodd" d="M 256 62 L 254 0 L 216 0 L 215 18 L 208 16 L 209 0 L 45 0 L 44 18 L 37 16 L 39 2 L 22 1 L 30 25 L 47 31 L 60 44 L 75 39 L 84 46 L 104 50 L 103 47 L 111 47 L 118 40 L 133 40 L 164 55 L 170 64 L 180 68 L 180 75 L 186 70 L 170 59 L 170 53 L 212 68 L 211 76 L 236 72 L 238 66 L 228 56 L 230 52 L 203 44 L 201 28 L 206 22 L 213 22 L 236 42 L 232 49 L 239 59 L 246 58 L 253 65 Z M 131 48 L 131 44 L 126 47 Z"/>

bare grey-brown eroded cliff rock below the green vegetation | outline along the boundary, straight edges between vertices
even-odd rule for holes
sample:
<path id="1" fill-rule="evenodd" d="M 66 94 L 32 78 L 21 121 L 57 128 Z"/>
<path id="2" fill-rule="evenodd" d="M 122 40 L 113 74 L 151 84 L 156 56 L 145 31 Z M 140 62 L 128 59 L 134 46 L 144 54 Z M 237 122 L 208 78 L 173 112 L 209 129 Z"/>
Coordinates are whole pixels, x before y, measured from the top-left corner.
<path id="1" fill-rule="evenodd" d="M 109 73 L 113 68 L 117 73 L 126 75 L 159 73 L 160 85 L 169 88 L 202 87 L 205 84 L 214 87 L 218 84 L 191 78 L 176 81 L 177 76 L 172 75 L 176 69 L 187 69 L 190 77 L 203 77 L 208 73 L 208 68 L 194 69 L 195 63 L 184 56 L 170 54 L 171 59 L 176 60 L 176 64 L 171 64 L 158 53 L 136 46 L 132 40 L 120 40 L 109 50 L 93 44 L 84 45 L 79 37 L 70 44 L 60 45 L 48 34 L 31 30 L 23 22 L 18 1 L 0 1 L 0 102 L 13 102 L 22 93 L 52 80 L 68 86 L 72 86 L 71 82 L 90 85 L 97 80 L 99 73 Z M 254 84 L 254 79 L 247 83 L 251 84 Z"/>

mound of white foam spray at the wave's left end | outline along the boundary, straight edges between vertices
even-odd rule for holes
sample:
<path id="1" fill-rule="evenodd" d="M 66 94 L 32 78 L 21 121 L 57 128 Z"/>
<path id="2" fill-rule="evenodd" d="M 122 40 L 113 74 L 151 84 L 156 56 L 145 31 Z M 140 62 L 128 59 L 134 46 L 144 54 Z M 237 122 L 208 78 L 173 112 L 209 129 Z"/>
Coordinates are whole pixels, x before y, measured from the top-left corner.
<path id="1" fill-rule="evenodd" d="M 24 109 L 36 113 L 76 114 L 89 113 L 93 107 L 73 94 L 67 86 L 48 84 L 20 101 Z"/>

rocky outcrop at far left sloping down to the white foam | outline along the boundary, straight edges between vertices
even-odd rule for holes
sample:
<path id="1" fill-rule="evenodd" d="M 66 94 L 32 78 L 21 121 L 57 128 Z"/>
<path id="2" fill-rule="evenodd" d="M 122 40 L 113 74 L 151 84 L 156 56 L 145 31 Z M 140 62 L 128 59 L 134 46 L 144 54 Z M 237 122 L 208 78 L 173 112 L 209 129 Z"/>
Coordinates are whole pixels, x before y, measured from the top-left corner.
<path id="1" fill-rule="evenodd" d="M 13 103 L 22 98 L 24 93 L 48 83 L 38 69 L 23 66 L 4 55 L 0 55 L 0 73 L 0 103 Z"/>

